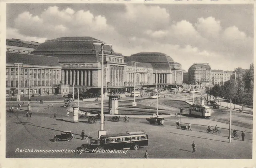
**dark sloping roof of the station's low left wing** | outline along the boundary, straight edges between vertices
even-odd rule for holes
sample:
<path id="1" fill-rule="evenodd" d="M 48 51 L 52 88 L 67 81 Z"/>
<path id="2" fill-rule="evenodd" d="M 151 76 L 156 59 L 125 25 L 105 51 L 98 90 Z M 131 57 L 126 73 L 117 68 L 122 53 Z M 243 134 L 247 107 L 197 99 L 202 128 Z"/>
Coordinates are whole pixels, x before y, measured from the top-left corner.
<path id="1" fill-rule="evenodd" d="M 6 63 L 23 63 L 26 65 L 60 66 L 58 57 L 6 52 Z"/>

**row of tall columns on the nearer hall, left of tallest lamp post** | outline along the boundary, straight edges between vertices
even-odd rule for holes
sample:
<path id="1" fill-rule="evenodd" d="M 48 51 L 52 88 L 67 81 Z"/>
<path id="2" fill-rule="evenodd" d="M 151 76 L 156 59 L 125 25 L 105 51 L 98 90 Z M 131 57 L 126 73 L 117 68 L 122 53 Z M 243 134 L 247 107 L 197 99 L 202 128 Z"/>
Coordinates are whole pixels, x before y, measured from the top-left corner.
<path id="1" fill-rule="evenodd" d="M 92 86 L 92 70 L 87 69 L 63 69 L 62 83 L 76 86 Z"/>

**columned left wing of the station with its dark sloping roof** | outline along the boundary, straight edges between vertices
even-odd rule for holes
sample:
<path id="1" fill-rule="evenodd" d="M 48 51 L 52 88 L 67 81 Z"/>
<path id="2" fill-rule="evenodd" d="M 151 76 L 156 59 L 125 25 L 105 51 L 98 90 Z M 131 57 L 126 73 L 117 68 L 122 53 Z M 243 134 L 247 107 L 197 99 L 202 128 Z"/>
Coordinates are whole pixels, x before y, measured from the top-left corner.
<path id="1" fill-rule="evenodd" d="M 68 85 L 60 85 L 61 66 L 58 57 L 6 52 L 6 95 L 69 93 Z M 60 90 L 62 89 L 62 90 Z"/>

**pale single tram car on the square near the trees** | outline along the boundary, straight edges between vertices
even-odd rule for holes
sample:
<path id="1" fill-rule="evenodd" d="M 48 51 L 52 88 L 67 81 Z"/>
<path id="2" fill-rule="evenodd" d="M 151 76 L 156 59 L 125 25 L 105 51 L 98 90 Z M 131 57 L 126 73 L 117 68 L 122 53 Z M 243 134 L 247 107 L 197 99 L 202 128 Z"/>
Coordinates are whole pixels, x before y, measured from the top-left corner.
<path id="1" fill-rule="evenodd" d="M 211 109 L 205 105 L 190 105 L 189 106 L 189 114 L 202 117 L 202 118 L 210 118 L 211 117 Z"/>

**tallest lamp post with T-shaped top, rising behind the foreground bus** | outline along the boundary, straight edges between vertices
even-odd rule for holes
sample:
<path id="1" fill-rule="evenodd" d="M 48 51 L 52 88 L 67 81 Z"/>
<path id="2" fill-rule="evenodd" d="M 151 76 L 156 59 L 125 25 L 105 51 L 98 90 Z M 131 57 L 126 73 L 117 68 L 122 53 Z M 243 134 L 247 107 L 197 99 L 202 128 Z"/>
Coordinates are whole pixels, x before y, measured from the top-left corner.
<path id="1" fill-rule="evenodd" d="M 103 101 L 104 101 L 104 92 L 103 92 L 103 85 L 104 85 L 104 45 L 110 45 L 112 44 L 107 44 L 107 43 L 93 43 L 93 45 L 100 45 L 101 46 L 101 108 L 100 108 L 100 130 L 98 130 L 98 138 L 100 138 L 101 135 L 106 134 L 106 130 L 104 130 L 104 109 L 103 109 Z M 96 49 L 95 49 L 96 51 Z"/>

